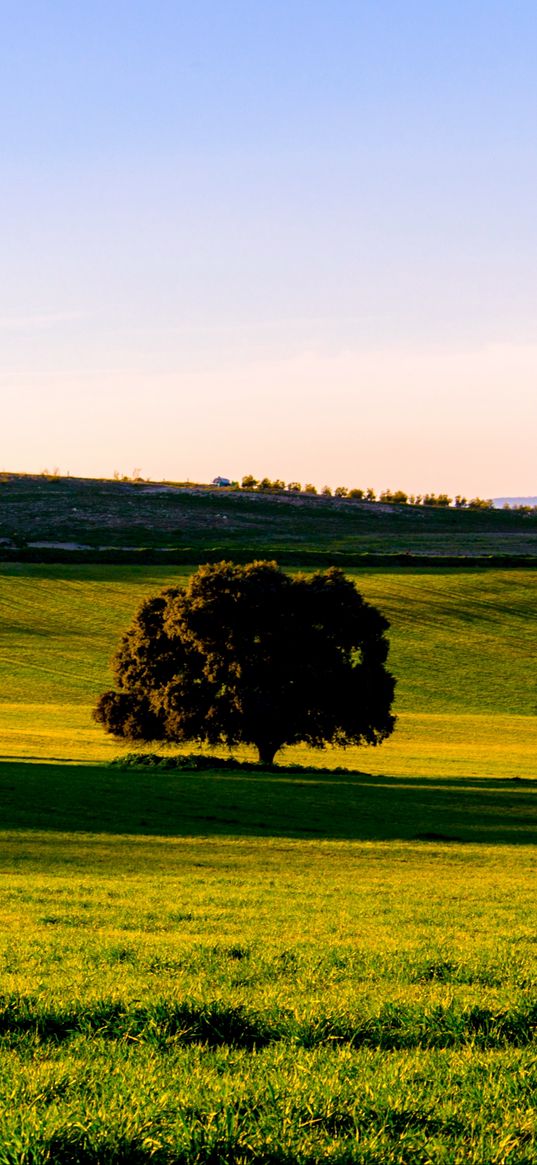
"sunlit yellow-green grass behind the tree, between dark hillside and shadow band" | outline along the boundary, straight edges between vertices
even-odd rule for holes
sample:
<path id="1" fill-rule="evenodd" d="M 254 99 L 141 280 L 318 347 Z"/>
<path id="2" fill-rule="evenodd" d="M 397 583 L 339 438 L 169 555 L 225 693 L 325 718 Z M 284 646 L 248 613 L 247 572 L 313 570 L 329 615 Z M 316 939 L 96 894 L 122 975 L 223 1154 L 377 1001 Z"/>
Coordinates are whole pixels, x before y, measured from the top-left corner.
<path id="1" fill-rule="evenodd" d="M 0 755 L 106 760 L 93 725 L 119 635 L 141 599 L 189 571 L 3 566 Z M 288 750 L 284 760 L 393 775 L 531 776 L 537 754 L 532 571 L 351 572 L 391 622 L 400 720 L 380 749 Z"/>

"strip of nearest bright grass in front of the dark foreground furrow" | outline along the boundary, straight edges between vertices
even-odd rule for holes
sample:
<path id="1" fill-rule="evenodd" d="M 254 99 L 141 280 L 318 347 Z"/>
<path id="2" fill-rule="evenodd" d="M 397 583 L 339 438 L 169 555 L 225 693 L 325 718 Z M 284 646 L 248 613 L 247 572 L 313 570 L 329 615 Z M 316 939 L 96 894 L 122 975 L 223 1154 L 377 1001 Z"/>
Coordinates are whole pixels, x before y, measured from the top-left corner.
<path id="1" fill-rule="evenodd" d="M 0 1162 L 408 1165 L 535 1160 L 535 1059 L 499 1052 L 175 1050 L 73 1042 L 2 1085 Z M 506 1087 L 499 1092 L 499 1073 Z M 15 1128 L 14 1128 L 15 1125 Z"/>

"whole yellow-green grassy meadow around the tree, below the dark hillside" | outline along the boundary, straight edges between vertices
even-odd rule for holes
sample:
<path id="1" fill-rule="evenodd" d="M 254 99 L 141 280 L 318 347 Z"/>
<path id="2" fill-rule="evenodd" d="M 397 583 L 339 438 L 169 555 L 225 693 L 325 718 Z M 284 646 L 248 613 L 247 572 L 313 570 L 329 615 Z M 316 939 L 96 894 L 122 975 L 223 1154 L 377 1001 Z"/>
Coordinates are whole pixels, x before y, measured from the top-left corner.
<path id="1" fill-rule="evenodd" d="M 537 1163 L 536 574 L 354 572 L 380 749 L 108 767 L 181 573 L 2 567 L 0 1165 Z"/>

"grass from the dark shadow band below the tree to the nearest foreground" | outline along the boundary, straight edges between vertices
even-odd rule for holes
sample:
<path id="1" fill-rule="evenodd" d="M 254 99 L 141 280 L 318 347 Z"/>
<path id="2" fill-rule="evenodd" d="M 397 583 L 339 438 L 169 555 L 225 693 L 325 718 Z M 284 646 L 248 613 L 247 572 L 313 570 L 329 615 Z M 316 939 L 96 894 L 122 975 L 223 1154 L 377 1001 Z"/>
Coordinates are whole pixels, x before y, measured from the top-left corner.
<path id="1" fill-rule="evenodd" d="M 530 792 L 3 764 L 0 1162 L 536 1162 Z"/>

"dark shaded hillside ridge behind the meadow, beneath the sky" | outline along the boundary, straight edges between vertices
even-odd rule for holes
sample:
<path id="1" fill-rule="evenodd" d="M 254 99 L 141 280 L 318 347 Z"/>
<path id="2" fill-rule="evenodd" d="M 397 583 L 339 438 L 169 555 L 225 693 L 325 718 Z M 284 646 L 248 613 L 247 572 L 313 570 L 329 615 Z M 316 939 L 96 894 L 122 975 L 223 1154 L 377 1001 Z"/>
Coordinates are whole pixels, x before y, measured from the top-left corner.
<path id="1" fill-rule="evenodd" d="M 537 558 L 537 514 L 30 474 L 0 480 L 0 560 L 198 562 L 275 557 L 349 564 L 404 556 Z M 156 556 L 156 558 L 155 558 Z"/>

